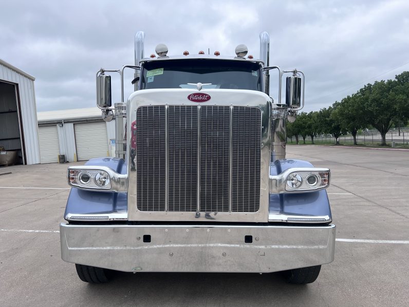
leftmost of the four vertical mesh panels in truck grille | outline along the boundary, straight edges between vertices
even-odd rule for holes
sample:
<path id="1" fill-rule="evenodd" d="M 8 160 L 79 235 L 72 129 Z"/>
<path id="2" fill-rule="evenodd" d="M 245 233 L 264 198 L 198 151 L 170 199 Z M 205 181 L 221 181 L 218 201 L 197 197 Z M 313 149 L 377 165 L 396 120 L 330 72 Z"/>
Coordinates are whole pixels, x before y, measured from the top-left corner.
<path id="1" fill-rule="evenodd" d="M 165 106 L 141 106 L 136 114 L 137 207 L 164 211 L 166 206 Z"/>

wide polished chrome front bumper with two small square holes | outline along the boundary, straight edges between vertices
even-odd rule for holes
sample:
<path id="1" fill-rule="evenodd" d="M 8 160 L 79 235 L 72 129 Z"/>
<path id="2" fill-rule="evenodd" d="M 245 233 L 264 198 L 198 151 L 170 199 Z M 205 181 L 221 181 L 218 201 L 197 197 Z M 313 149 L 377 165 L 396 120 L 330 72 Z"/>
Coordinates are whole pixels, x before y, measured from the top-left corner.
<path id="1" fill-rule="evenodd" d="M 72 263 L 124 272 L 269 273 L 332 262 L 335 225 L 62 223 L 60 236 L 61 258 Z"/>

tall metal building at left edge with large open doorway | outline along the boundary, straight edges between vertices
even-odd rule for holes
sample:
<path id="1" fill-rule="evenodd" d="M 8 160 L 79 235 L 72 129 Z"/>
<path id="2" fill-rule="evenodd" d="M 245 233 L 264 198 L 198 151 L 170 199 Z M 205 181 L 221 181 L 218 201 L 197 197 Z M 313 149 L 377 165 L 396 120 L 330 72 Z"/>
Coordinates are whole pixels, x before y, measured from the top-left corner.
<path id="1" fill-rule="evenodd" d="M 0 166 L 40 163 L 34 80 L 0 59 Z"/>

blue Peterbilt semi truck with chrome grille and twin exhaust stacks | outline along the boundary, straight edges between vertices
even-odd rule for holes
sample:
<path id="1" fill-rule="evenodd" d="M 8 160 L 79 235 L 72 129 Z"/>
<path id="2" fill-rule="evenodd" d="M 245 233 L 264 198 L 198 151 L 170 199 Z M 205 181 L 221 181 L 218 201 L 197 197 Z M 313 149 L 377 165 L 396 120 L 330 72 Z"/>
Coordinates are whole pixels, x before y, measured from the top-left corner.
<path id="1" fill-rule="evenodd" d="M 102 116 L 115 116 L 116 157 L 68 168 L 62 259 L 90 283 L 107 282 L 113 270 L 315 281 L 334 258 L 330 170 L 285 156 L 304 74 L 269 66 L 267 32 L 259 59 L 245 45 L 235 56 L 168 56 L 159 44 L 144 57 L 144 37 L 135 36 L 135 65 L 96 75 Z M 126 102 L 124 69 L 135 74 Z M 109 72 L 121 78 L 114 107 Z"/>

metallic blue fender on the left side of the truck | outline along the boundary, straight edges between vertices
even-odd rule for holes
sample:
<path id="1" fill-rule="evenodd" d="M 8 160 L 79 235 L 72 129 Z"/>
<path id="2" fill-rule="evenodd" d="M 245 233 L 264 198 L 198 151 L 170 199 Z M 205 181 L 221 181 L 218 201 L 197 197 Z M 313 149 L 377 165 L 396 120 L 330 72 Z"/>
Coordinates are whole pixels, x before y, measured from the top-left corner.
<path id="1" fill-rule="evenodd" d="M 127 165 L 120 158 L 94 158 L 85 165 L 106 166 L 117 173 L 126 174 Z M 126 213 L 127 194 L 117 192 L 94 192 L 71 188 L 65 207 L 64 217 L 67 213 L 98 214 L 98 213 Z"/>

